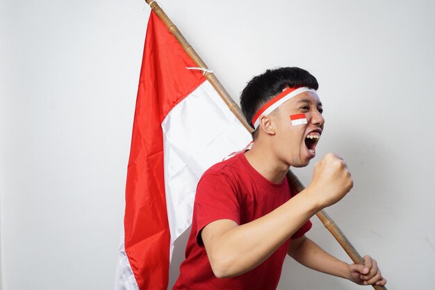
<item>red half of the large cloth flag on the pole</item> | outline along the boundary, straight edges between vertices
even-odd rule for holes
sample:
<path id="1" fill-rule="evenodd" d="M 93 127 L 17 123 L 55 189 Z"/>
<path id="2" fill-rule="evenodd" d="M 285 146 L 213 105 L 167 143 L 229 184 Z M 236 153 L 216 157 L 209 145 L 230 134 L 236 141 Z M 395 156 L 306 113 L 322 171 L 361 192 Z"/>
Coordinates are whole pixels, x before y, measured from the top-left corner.
<path id="1" fill-rule="evenodd" d="M 195 66 L 151 11 L 133 123 L 124 216 L 125 251 L 140 290 L 167 288 L 170 230 L 161 122 L 205 81 L 202 74 L 186 70 Z"/>

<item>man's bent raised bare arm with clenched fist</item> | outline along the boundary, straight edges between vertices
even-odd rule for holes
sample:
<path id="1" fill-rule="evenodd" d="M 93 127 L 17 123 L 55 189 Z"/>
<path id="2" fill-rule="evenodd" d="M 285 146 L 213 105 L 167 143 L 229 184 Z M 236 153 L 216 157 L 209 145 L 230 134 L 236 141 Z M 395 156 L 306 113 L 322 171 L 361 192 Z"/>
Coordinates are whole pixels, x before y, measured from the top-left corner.
<path id="1" fill-rule="evenodd" d="M 315 165 L 311 184 L 274 211 L 244 225 L 216 220 L 202 241 L 216 277 L 241 275 L 261 264 L 320 209 L 338 202 L 353 186 L 345 162 L 327 154 Z"/>

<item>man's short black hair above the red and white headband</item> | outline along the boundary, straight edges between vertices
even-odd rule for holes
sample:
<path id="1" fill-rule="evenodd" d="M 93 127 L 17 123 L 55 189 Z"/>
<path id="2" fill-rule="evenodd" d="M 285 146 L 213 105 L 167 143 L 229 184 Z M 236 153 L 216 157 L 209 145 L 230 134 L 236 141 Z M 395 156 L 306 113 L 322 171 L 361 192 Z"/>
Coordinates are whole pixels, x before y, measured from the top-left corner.
<path id="1" fill-rule="evenodd" d="M 247 122 L 254 128 L 251 121 L 261 106 L 285 88 L 299 87 L 317 90 L 319 84 L 312 74 L 299 67 L 280 67 L 254 76 L 240 95 L 240 106 Z M 252 136 L 254 135 L 255 132 L 252 133 Z"/>

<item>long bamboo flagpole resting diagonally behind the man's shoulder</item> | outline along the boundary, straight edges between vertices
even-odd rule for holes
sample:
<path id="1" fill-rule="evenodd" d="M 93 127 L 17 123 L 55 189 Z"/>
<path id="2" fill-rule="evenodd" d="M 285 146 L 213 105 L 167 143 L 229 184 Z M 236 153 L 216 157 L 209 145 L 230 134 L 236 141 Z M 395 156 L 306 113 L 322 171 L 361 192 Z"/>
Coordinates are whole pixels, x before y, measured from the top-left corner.
<path id="1" fill-rule="evenodd" d="M 156 3 L 155 0 L 145 0 L 146 3 L 149 4 L 151 9 L 156 13 L 156 15 L 162 20 L 162 22 L 165 24 L 167 29 L 174 35 L 174 37 L 177 39 L 181 47 L 183 47 L 184 51 L 186 51 L 186 54 L 192 59 L 192 61 L 195 62 L 195 64 L 198 67 L 202 67 L 204 69 L 204 75 L 206 79 L 211 83 L 213 88 L 217 91 L 217 93 L 222 97 L 225 104 L 227 104 L 229 110 L 236 115 L 236 118 L 243 124 L 243 126 L 249 131 L 249 133 L 252 133 L 253 129 L 251 126 L 249 126 L 248 122 L 245 119 L 245 116 L 243 115 L 242 111 L 240 110 L 238 104 L 234 102 L 234 100 L 230 97 L 229 93 L 225 88 L 222 86 L 220 81 L 216 78 L 216 76 L 208 70 L 208 67 L 204 61 L 199 57 L 199 55 L 196 53 L 195 49 L 189 44 L 189 42 L 186 40 L 186 38 L 183 37 L 177 26 L 174 25 L 174 23 L 171 21 L 169 17 L 167 17 L 166 13 L 163 11 L 163 9 L 158 6 L 158 3 Z M 288 171 L 288 178 L 290 180 L 290 183 L 295 188 L 297 192 L 301 192 L 304 190 L 305 186 L 300 182 L 300 180 L 296 177 L 296 175 L 291 172 L 291 170 Z M 347 239 L 345 234 L 341 232 L 340 228 L 334 220 L 332 220 L 328 214 L 322 210 L 319 211 L 316 216 L 322 221 L 323 225 L 331 232 L 331 234 L 334 236 L 334 238 L 338 241 L 338 243 L 342 246 L 342 248 L 347 252 L 347 255 L 354 261 L 355 264 L 363 264 L 364 260 L 359 255 L 359 252 L 356 251 L 352 243 Z M 373 288 L 376 290 L 386 290 L 386 287 L 383 286 L 377 286 L 372 285 Z"/>

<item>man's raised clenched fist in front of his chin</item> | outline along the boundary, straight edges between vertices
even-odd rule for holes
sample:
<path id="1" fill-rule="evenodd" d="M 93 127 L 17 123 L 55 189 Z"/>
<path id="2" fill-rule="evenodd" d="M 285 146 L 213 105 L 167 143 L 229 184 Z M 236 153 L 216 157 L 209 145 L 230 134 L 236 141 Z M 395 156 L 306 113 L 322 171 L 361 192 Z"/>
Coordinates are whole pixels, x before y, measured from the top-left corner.
<path id="1" fill-rule="evenodd" d="M 328 153 L 315 164 L 313 180 L 308 187 L 322 209 L 341 200 L 352 186 L 354 182 L 345 161 L 340 156 Z"/>

